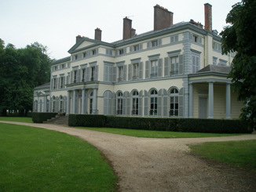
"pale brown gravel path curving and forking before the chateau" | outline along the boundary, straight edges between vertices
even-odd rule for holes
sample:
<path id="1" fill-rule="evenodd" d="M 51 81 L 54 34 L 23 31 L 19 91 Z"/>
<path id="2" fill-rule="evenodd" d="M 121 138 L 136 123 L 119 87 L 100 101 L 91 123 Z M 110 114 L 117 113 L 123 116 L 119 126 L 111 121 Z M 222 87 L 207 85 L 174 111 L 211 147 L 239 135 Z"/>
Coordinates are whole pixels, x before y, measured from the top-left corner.
<path id="1" fill-rule="evenodd" d="M 256 174 L 189 152 L 188 144 L 256 139 L 244 136 L 148 139 L 49 124 L 0 121 L 77 136 L 101 150 L 119 176 L 119 191 L 256 191 Z"/>

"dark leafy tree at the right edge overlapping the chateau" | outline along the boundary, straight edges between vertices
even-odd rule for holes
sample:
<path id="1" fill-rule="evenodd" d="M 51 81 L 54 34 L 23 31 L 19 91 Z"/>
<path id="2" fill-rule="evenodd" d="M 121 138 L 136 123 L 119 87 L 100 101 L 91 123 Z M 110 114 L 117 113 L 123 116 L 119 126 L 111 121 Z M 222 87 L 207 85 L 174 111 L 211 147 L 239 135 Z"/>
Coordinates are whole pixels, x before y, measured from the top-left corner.
<path id="1" fill-rule="evenodd" d="M 256 122 L 256 1 L 242 0 L 232 5 L 226 23 L 231 24 L 221 31 L 222 54 L 236 53 L 232 60 L 229 78 L 238 91 L 238 100 L 244 101 L 240 118 Z"/>

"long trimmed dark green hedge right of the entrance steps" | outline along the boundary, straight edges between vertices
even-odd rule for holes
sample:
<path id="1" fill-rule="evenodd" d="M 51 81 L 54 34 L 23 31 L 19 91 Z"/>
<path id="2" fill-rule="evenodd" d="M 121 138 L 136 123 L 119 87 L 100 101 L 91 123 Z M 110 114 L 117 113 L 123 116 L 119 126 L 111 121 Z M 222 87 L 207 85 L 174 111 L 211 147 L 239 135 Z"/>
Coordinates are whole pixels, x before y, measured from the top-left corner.
<path id="1" fill-rule="evenodd" d="M 69 126 L 110 127 L 172 132 L 251 133 L 247 121 L 199 118 L 137 118 L 69 114 Z"/>

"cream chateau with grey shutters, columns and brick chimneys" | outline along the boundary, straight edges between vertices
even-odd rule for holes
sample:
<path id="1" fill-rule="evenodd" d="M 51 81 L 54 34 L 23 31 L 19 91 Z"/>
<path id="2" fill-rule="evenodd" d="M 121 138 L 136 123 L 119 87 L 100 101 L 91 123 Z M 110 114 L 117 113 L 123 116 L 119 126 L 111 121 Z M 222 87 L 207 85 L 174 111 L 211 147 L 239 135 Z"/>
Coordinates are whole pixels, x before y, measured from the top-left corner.
<path id="1" fill-rule="evenodd" d="M 173 24 L 173 13 L 155 5 L 154 30 L 136 34 L 123 19 L 123 39 L 76 37 L 70 56 L 51 63 L 51 80 L 35 88 L 34 111 L 161 118 L 239 118 L 243 103 L 227 78 L 234 55 L 221 55 L 212 30 Z"/>

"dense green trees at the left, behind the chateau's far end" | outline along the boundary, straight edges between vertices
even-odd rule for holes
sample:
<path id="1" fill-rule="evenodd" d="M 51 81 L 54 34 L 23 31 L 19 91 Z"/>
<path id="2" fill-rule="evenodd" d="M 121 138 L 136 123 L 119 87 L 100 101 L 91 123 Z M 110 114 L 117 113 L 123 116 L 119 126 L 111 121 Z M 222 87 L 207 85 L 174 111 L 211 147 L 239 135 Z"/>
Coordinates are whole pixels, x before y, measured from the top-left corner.
<path id="1" fill-rule="evenodd" d="M 24 49 L 5 47 L 0 39 L 0 110 L 27 113 L 33 107 L 33 92 L 38 85 L 49 82 L 51 59 L 46 47 L 35 42 Z"/>

